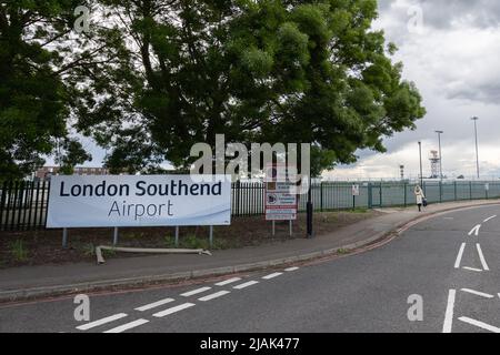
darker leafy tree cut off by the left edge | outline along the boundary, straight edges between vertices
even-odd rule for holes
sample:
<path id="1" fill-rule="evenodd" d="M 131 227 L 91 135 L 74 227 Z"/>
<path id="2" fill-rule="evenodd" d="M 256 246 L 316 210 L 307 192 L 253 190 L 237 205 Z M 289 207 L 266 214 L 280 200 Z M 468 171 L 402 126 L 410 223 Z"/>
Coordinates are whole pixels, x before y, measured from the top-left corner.
<path id="1" fill-rule="evenodd" d="M 74 45 L 70 34 L 80 3 L 0 2 L 0 180 L 22 178 L 52 154 L 67 171 L 90 158 L 69 134 L 74 98 L 64 81 L 79 63 L 67 67 L 64 53 Z"/>

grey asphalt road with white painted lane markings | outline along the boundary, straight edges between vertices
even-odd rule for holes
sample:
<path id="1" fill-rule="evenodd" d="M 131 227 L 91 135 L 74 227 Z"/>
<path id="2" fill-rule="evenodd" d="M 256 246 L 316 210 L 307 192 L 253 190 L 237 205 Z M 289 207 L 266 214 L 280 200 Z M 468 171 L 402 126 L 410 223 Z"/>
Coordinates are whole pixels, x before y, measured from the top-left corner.
<path id="1" fill-rule="evenodd" d="M 3 305 L 0 332 L 500 332 L 498 255 L 500 206 L 477 207 L 298 268 L 89 295 L 90 322 L 72 297 Z"/>

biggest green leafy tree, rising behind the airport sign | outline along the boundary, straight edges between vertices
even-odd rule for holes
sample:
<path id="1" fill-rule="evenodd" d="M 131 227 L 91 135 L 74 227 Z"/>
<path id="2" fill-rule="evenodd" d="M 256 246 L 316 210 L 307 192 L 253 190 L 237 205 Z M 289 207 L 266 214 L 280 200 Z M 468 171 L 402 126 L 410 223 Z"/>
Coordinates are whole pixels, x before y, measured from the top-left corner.
<path id="1" fill-rule="evenodd" d="M 101 4 L 99 38 L 117 65 L 92 74 L 79 128 L 110 149 L 116 170 L 189 165 L 192 144 L 223 133 L 312 143 L 318 174 L 358 149 L 383 152 L 383 138 L 424 115 L 394 45 L 371 29 L 376 0 Z"/>

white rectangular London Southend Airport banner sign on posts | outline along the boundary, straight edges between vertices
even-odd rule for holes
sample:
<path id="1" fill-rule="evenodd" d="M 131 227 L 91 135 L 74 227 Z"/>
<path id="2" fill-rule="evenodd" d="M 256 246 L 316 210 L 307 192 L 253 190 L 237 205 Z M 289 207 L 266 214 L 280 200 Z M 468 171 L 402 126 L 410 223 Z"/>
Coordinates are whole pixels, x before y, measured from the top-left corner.
<path id="1" fill-rule="evenodd" d="M 49 229 L 230 223 L 230 175 L 51 178 Z"/>

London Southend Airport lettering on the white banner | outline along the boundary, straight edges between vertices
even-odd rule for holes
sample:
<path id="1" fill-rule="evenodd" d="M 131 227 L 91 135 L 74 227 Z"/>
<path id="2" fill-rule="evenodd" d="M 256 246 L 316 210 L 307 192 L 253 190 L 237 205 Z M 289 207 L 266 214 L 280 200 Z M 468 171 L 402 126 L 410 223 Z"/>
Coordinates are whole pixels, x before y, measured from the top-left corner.
<path id="1" fill-rule="evenodd" d="M 99 184 L 72 184 L 70 187 L 60 182 L 59 194 L 61 197 L 127 197 L 131 191 L 136 196 L 219 196 L 222 194 L 222 182 L 190 183 L 182 180 L 172 180 L 169 183 L 151 184 L 146 181 L 138 181 L 133 186 L 130 184 L 110 184 L 102 181 Z M 127 201 L 113 201 L 109 209 L 108 216 L 133 217 L 136 221 L 141 217 L 173 216 L 173 203 L 171 200 L 161 204 L 131 204 Z"/>

